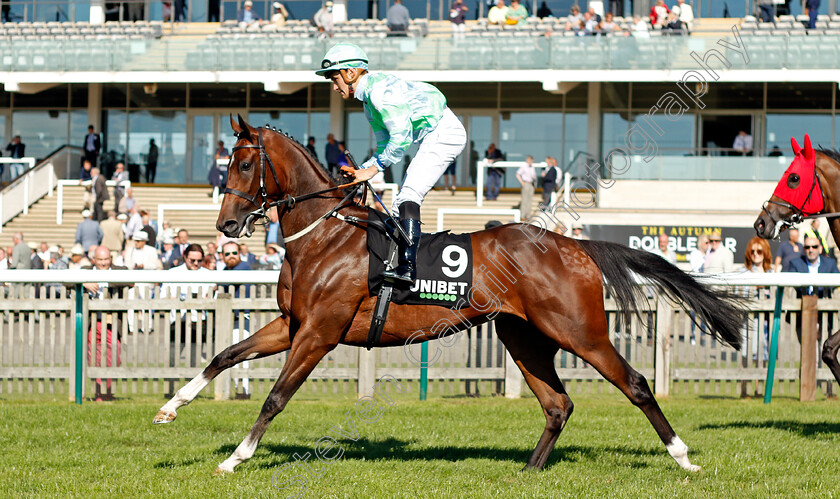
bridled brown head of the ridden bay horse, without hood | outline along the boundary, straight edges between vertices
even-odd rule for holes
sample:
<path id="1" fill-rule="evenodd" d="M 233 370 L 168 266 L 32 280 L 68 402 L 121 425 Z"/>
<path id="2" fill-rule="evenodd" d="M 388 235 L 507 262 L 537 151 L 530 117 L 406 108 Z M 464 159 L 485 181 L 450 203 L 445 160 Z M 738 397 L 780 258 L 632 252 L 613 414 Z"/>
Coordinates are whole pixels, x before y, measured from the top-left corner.
<path id="1" fill-rule="evenodd" d="M 290 175 L 286 161 L 271 159 L 287 157 L 281 136 L 268 128 L 251 127 L 242 116 L 237 118 L 230 117 L 237 141 L 216 228 L 228 237 L 248 237 L 254 224 L 267 217 L 270 203 L 289 192 Z"/>

